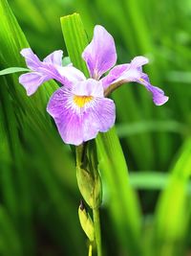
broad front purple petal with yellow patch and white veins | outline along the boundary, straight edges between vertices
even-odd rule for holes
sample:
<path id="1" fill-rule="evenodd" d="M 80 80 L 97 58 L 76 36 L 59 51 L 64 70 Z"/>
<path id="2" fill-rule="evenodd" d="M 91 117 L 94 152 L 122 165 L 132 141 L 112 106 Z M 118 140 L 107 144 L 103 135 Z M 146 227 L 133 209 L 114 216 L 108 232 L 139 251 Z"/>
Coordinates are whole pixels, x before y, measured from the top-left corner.
<path id="1" fill-rule="evenodd" d="M 90 81 L 88 82 L 90 85 Z M 88 82 L 80 82 L 78 87 L 87 88 Z M 98 85 L 99 82 L 96 82 Z M 74 90 L 76 88 L 77 86 Z M 114 125 L 116 118 L 115 104 L 112 100 L 94 97 L 96 93 L 99 95 L 100 92 L 97 91 L 88 91 L 87 94 L 80 95 L 82 91 L 80 88 L 79 94 L 75 95 L 72 90 L 62 87 L 54 92 L 47 106 L 47 111 L 53 116 L 63 141 L 75 146 L 96 138 L 98 131 L 107 131 Z"/>

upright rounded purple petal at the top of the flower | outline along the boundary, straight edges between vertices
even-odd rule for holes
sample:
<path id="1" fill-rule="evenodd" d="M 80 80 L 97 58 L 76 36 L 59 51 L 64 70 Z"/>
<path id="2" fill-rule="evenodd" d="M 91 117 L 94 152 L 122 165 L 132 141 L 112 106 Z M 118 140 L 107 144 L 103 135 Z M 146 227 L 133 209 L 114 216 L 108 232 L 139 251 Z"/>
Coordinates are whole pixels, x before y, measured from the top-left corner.
<path id="1" fill-rule="evenodd" d="M 114 38 L 103 27 L 96 25 L 91 43 L 82 53 L 90 75 L 98 80 L 117 61 Z"/>

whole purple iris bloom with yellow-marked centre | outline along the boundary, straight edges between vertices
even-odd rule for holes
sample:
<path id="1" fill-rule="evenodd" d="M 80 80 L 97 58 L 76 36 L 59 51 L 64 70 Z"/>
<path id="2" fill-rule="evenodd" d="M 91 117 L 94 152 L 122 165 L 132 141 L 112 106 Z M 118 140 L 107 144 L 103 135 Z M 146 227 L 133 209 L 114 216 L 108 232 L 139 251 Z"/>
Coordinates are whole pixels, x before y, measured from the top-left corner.
<path id="1" fill-rule="evenodd" d="M 31 69 L 30 73 L 19 78 L 29 96 L 44 81 L 54 79 L 63 85 L 53 93 L 47 111 L 67 144 L 80 145 L 96 138 L 99 131 L 105 132 L 114 126 L 116 106 L 107 96 L 123 83 L 136 81 L 142 84 L 152 94 L 155 105 L 168 101 L 164 92 L 151 85 L 148 76 L 142 72 L 142 65 L 148 63 L 147 58 L 139 56 L 130 63 L 115 66 L 114 38 L 99 25 L 96 25 L 93 39 L 82 53 L 89 79 L 73 65 L 62 66 L 62 51 L 53 52 L 43 61 L 30 48 L 23 49 L 21 55 Z"/>

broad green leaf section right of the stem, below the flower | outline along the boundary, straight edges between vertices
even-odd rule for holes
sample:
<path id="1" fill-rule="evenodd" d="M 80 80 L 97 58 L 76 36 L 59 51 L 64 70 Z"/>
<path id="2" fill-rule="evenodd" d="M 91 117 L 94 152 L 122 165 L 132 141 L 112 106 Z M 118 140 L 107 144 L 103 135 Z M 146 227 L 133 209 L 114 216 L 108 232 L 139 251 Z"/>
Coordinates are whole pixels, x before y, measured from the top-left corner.
<path id="1" fill-rule="evenodd" d="M 109 190 L 110 215 L 117 228 L 120 243 L 126 244 L 134 255 L 141 255 L 140 213 L 138 198 L 129 183 L 128 168 L 120 147 L 116 129 L 99 133 L 97 137 L 99 166 Z"/>

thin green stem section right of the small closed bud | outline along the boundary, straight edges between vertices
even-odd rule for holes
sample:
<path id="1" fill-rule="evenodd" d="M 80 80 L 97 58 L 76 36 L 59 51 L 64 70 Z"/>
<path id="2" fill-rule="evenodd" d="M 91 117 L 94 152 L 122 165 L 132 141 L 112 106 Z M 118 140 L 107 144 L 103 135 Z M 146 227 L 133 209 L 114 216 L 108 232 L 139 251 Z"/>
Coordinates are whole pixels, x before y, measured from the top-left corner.
<path id="1" fill-rule="evenodd" d="M 102 256 L 101 252 L 101 230 L 100 230 L 100 219 L 99 209 L 93 209 L 94 223 L 95 223 L 95 235 L 96 235 L 96 250 L 97 256 Z"/>

